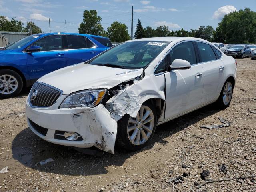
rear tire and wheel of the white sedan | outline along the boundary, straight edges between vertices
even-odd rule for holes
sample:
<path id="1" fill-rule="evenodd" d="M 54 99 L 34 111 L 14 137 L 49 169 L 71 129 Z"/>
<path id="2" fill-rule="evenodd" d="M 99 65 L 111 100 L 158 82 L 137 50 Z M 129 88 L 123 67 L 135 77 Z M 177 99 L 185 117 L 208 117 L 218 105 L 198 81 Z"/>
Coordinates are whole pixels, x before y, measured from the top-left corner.
<path id="1" fill-rule="evenodd" d="M 234 85 L 232 81 L 226 80 L 220 92 L 220 96 L 217 100 L 217 104 L 220 108 L 229 107 L 232 96 L 233 96 L 233 88 L 234 88 Z"/>

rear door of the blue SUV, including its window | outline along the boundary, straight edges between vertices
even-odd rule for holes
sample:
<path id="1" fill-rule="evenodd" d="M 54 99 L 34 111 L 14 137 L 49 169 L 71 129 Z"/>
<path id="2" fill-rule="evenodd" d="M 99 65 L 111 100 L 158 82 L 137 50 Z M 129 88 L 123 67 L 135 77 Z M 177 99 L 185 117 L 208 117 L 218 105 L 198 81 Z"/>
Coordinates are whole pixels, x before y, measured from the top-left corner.
<path id="1" fill-rule="evenodd" d="M 85 36 L 66 35 L 67 38 L 67 65 L 85 62 L 100 52 L 97 45 Z"/>

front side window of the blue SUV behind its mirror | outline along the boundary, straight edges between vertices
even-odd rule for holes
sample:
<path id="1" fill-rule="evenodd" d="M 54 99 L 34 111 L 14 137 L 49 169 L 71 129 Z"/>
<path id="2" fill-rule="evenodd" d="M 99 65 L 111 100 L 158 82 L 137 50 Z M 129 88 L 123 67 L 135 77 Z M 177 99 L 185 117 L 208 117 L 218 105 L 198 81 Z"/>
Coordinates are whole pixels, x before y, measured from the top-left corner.
<path id="1" fill-rule="evenodd" d="M 61 35 L 51 35 L 41 38 L 37 42 L 34 42 L 32 46 L 39 46 L 40 51 L 54 51 L 62 50 L 62 36 Z"/>

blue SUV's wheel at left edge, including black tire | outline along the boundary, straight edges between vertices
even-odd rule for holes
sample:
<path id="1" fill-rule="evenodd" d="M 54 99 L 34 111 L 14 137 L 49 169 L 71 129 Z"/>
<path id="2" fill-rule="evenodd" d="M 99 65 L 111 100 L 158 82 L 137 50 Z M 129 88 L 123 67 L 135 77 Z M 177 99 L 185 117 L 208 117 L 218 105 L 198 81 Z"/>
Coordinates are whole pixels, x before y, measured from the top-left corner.
<path id="1" fill-rule="evenodd" d="M 17 96 L 23 87 L 20 75 L 10 69 L 0 70 L 0 99 Z"/>

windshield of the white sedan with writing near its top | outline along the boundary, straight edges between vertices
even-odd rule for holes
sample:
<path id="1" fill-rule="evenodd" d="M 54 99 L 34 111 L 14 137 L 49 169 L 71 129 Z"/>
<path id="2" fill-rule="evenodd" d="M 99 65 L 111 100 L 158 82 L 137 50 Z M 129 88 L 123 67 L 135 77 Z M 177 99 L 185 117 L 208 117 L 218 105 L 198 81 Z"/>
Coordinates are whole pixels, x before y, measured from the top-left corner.
<path id="1" fill-rule="evenodd" d="M 169 43 L 166 41 L 126 42 L 109 49 L 89 64 L 126 69 L 145 68 Z"/>

